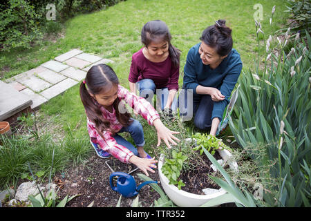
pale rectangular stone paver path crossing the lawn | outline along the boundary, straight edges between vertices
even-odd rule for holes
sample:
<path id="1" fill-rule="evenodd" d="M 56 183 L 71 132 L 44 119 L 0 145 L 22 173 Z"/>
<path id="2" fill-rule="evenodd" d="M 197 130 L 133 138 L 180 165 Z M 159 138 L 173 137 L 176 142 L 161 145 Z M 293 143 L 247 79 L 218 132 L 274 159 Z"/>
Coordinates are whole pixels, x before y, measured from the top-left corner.
<path id="1" fill-rule="evenodd" d="M 73 49 L 37 68 L 7 79 L 6 83 L 30 97 L 30 107 L 36 109 L 49 99 L 79 84 L 93 65 L 108 63 L 113 61 Z"/>

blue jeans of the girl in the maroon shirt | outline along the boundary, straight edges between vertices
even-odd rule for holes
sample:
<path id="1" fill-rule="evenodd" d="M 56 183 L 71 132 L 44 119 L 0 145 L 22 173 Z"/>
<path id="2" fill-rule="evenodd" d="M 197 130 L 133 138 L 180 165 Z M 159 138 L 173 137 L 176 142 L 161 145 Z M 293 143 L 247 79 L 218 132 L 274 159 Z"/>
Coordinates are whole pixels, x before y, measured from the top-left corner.
<path id="1" fill-rule="evenodd" d="M 153 95 L 157 95 L 157 103 L 161 105 L 161 111 L 164 110 L 164 106 L 167 104 L 167 99 L 169 98 L 169 88 L 156 89 L 156 84 L 154 84 L 151 79 L 142 79 L 136 83 L 136 86 L 140 92 L 140 97 L 144 97 L 147 101 L 152 104 Z M 171 104 L 171 110 L 176 111 L 177 109 L 177 99 L 174 97 Z"/>

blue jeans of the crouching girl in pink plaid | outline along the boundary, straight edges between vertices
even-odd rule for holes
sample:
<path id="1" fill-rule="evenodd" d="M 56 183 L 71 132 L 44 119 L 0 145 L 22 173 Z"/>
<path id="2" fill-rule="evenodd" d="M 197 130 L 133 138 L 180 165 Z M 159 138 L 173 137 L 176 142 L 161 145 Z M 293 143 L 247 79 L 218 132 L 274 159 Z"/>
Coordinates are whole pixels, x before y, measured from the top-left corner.
<path id="1" fill-rule="evenodd" d="M 134 140 L 134 143 L 136 146 L 144 146 L 144 131 L 142 129 L 142 124 L 136 119 L 133 119 L 133 122 L 129 126 L 124 126 L 121 128 L 121 130 L 117 133 L 122 133 L 122 132 L 129 132 L 131 134 L 131 137 Z M 129 149 L 129 151 L 133 152 L 134 155 L 138 155 L 137 148 L 133 146 L 130 142 L 125 140 L 122 136 L 115 134 L 113 136 L 117 144 L 120 144 L 122 146 L 125 146 L 126 148 Z"/>

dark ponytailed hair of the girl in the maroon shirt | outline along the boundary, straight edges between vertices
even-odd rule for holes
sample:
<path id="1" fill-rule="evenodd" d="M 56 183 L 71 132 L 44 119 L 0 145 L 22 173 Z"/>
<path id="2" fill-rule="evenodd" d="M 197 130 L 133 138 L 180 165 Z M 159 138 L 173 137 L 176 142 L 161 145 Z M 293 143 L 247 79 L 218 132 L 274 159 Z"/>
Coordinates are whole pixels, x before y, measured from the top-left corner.
<path id="1" fill-rule="evenodd" d="M 167 41 L 169 43 L 169 57 L 171 57 L 173 66 L 179 66 L 180 50 L 171 44 L 171 33 L 164 21 L 153 20 L 145 23 L 144 27 L 142 27 L 141 37 L 142 44 L 147 48 L 152 41 L 158 41 L 159 39 Z"/>

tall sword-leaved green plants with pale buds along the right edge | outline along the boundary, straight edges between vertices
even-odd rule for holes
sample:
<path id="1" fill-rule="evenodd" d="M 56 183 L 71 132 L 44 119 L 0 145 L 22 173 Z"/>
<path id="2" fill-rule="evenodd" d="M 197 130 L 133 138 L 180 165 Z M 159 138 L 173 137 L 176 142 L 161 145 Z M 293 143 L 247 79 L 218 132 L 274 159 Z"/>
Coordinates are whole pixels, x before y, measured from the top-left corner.
<path id="1" fill-rule="evenodd" d="M 308 32 L 305 36 L 310 46 Z M 269 175 L 261 174 L 279 181 L 264 191 L 267 206 L 309 206 L 310 51 L 304 41 L 295 39 L 294 47 L 286 54 L 286 39 L 277 38 L 277 48 L 270 48 L 269 39 L 263 46 L 267 52 L 263 68 L 243 71 L 239 78 L 238 108 L 229 126 L 236 142 L 254 161 L 263 166 L 276 162 Z M 279 55 L 274 55 L 275 50 Z M 257 150 L 249 148 L 258 145 L 266 148 L 267 157 L 261 160 L 256 158 Z"/>

